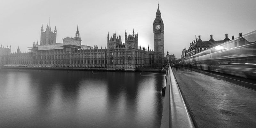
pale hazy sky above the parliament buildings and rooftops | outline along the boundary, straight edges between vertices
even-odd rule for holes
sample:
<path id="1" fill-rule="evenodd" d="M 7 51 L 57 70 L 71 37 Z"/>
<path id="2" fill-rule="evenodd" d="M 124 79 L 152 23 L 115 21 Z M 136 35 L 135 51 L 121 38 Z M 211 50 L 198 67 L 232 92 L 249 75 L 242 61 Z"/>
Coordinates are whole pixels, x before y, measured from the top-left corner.
<path id="1" fill-rule="evenodd" d="M 153 49 L 153 21 L 157 4 L 164 21 L 164 53 L 180 58 L 195 35 L 208 41 L 256 30 L 256 0 L 8 0 L 0 1 L 0 44 L 27 52 L 40 44 L 40 30 L 49 23 L 57 28 L 57 43 L 74 37 L 77 24 L 84 45 L 107 46 L 107 34 L 134 29 L 139 45 Z"/>

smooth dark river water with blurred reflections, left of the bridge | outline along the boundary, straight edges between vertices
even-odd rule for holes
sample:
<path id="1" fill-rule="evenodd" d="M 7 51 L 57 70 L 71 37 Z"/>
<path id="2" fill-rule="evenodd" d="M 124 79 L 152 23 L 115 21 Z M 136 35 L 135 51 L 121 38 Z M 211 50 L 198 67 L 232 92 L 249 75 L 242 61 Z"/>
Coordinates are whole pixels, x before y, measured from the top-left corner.
<path id="1" fill-rule="evenodd" d="M 0 69 L 0 127 L 160 127 L 164 76 Z"/>

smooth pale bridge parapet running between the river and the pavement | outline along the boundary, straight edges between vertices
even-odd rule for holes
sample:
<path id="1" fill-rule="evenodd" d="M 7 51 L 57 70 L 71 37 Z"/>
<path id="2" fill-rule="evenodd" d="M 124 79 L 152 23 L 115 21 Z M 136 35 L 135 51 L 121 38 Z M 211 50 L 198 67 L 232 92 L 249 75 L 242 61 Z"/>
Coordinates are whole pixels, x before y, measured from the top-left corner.
<path id="1" fill-rule="evenodd" d="M 161 128 L 194 128 L 180 88 L 169 66 L 161 120 Z"/>

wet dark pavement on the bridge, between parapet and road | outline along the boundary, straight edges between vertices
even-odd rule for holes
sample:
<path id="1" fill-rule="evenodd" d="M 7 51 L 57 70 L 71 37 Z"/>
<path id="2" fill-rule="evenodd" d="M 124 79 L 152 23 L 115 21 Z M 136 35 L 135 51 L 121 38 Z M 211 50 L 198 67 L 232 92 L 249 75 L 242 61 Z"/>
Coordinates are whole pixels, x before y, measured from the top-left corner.
<path id="1" fill-rule="evenodd" d="M 255 90 L 184 68 L 173 73 L 196 127 L 255 128 Z"/>

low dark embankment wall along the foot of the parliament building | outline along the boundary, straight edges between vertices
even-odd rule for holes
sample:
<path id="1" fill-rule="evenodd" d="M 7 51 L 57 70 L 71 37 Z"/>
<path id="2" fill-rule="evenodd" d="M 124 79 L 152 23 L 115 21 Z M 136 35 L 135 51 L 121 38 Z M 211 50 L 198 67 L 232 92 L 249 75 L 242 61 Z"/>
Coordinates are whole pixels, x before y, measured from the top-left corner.
<path id="1" fill-rule="evenodd" d="M 114 71 L 114 72 L 161 72 L 160 68 L 138 68 L 133 70 L 114 69 L 108 70 L 107 68 L 68 68 L 68 67 L 0 67 L 3 69 L 34 69 L 34 70 L 84 70 L 84 71 Z"/>

